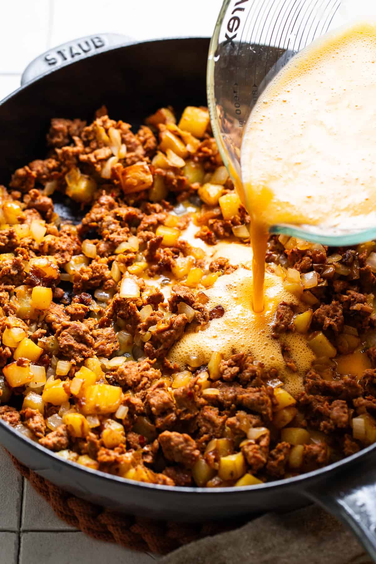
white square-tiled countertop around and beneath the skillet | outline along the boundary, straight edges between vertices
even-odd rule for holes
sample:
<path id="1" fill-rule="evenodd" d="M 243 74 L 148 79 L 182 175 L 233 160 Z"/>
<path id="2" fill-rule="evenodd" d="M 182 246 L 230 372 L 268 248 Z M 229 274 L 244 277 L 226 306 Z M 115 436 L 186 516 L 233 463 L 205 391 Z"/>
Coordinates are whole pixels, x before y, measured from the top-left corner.
<path id="1" fill-rule="evenodd" d="M 17 0 L 3 2 L 0 99 L 20 85 L 30 60 L 100 32 L 135 39 L 210 36 L 222 0 Z M 126 118 L 126 116 L 125 116 Z M 16 472 L 0 448 L 0 564 L 148 564 L 157 557 L 102 543 L 69 528 Z"/>

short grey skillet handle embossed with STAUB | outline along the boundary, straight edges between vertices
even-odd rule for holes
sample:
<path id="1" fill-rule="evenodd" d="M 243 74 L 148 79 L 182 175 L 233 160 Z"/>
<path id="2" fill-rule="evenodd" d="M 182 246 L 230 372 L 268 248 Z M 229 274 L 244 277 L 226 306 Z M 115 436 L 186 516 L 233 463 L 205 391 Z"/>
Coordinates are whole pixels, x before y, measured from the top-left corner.
<path id="1" fill-rule="evenodd" d="M 34 80 L 34 78 L 39 77 L 41 74 L 73 63 L 78 59 L 90 57 L 99 51 L 105 51 L 110 46 L 134 42 L 135 40 L 131 37 L 118 33 L 98 33 L 73 39 L 73 41 L 52 47 L 52 49 L 39 55 L 28 64 L 21 76 L 21 86 Z"/>

